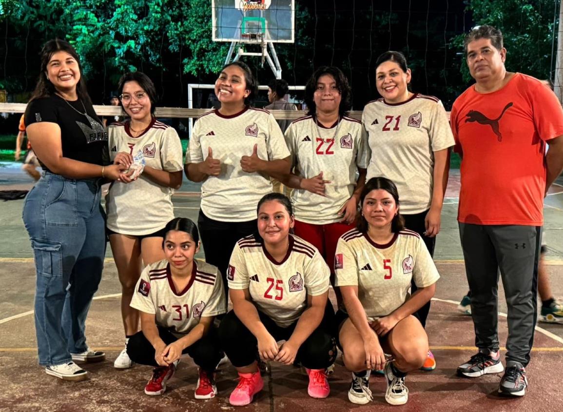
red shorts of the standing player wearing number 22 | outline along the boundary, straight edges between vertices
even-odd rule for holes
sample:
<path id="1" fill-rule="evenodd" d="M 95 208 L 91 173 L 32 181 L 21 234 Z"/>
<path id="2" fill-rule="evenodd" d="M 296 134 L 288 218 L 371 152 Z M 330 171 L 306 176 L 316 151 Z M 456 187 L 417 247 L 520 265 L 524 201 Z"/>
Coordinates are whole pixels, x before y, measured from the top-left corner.
<path id="1" fill-rule="evenodd" d="M 303 240 L 311 243 L 315 248 L 319 249 L 320 256 L 324 258 L 330 268 L 330 273 L 334 273 L 334 254 L 336 253 L 336 245 L 340 236 L 348 230 L 355 229 L 355 225 L 347 223 L 335 222 L 326 225 L 313 225 L 295 221 L 294 233 Z"/>

